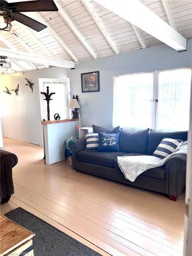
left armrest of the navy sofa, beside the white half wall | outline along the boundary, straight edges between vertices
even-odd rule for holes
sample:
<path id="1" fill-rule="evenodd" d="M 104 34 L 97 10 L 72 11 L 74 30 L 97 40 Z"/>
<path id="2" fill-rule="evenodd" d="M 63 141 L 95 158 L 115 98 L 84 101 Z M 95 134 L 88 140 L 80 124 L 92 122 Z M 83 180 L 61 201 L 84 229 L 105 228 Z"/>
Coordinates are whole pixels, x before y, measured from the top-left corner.
<path id="1" fill-rule="evenodd" d="M 77 168 L 77 153 L 86 149 L 86 138 L 69 141 L 69 149 L 72 153 L 73 169 Z"/>

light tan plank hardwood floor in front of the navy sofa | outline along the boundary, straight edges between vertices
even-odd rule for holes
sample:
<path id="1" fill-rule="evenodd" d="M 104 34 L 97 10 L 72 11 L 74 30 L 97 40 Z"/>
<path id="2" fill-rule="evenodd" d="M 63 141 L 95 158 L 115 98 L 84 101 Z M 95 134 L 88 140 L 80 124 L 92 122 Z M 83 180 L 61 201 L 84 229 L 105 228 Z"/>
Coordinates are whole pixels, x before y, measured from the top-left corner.
<path id="1" fill-rule="evenodd" d="M 44 163 L 42 147 L 4 139 L 18 157 L 15 193 L 2 214 L 22 207 L 102 255 L 182 255 L 184 193 L 164 195 Z M 44 255 L 42 255 L 44 256 Z"/>

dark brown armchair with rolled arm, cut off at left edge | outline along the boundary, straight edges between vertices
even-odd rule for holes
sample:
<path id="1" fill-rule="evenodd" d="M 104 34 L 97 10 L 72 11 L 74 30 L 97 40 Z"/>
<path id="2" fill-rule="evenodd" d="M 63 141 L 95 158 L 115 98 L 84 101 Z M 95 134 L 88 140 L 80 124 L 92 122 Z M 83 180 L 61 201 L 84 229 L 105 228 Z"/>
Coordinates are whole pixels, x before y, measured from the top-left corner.
<path id="1" fill-rule="evenodd" d="M 17 156 L 13 153 L 0 150 L 1 161 L 1 203 L 7 203 L 12 194 L 14 194 L 14 186 L 12 179 L 12 168 L 17 164 Z"/>

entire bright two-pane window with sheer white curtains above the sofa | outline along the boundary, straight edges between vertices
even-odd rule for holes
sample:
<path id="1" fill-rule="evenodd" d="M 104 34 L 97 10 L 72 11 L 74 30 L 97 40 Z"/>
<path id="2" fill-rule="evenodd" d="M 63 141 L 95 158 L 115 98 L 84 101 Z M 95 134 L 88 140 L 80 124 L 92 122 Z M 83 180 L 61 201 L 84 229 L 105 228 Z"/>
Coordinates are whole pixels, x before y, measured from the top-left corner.
<path id="1" fill-rule="evenodd" d="M 190 69 L 114 77 L 113 126 L 188 130 L 190 80 Z"/>

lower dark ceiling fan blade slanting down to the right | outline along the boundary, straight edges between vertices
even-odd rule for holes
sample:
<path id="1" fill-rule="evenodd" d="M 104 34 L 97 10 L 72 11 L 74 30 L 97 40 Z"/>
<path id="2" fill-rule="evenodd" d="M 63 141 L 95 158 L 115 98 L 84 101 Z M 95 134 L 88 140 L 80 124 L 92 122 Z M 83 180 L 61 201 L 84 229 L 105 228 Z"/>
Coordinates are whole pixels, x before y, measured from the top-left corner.
<path id="1" fill-rule="evenodd" d="M 29 28 L 36 30 L 37 32 L 47 28 L 46 25 L 44 25 L 40 22 L 37 22 L 35 19 L 30 18 L 22 13 L 14 12 L 14 15 L 15 15 L 17 22 L 20 22 L 20 23 L 28 26 Z"/>

